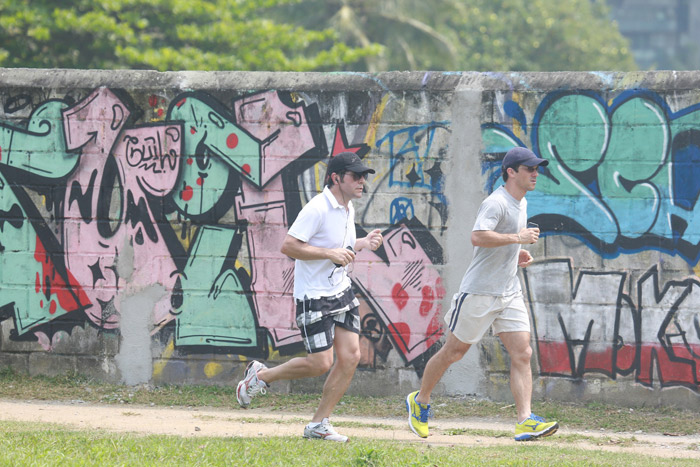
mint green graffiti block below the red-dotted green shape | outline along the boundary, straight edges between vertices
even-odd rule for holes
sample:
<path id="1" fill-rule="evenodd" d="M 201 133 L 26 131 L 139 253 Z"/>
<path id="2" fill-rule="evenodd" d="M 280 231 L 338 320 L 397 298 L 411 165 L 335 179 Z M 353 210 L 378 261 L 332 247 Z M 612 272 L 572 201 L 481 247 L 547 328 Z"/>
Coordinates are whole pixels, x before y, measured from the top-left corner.
<path id="1" fill-rule="evenodd" d="M 187 292 L 176 319 L 176 345 L 258 347 L 255 316 L 245 289 L 224 264 L 236 232 L 211 226 L 197 231 L 182 277 L 182 289 Z M 216 274 L 213 284 L 212 272 Z"/>

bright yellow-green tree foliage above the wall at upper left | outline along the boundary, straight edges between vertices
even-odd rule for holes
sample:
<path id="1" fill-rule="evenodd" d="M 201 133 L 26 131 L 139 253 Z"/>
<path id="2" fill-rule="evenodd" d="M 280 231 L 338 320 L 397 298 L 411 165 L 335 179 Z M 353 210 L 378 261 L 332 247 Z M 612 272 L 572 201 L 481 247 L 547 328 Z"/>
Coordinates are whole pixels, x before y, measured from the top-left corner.
<path id="1" fill-rule="evenodd" d="M 298 0 L 5 0 L 0 66 L 331 70 L 376 55 L 333 30 L 273 21 Z"/>

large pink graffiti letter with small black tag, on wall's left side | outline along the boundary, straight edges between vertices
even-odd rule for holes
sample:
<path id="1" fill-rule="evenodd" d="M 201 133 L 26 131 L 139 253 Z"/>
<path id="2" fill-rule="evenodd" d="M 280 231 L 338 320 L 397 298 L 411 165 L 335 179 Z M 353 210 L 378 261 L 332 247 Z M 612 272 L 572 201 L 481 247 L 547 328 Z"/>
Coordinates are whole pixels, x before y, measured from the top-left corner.
<path id="1" fill-rule="evenodd" d="M 63 115 L 68 149 L 81 148 L 80 167 L 67 181 L 64 201 L 66 265 L 94 304 L 88 317 L 104 328 L 118 326 L 123 291 L 158 283 L 170 292 L 176 279 L 145 193 L 163 196 L 174 187 L 181 129 L 155 125 L 123 130 L 128 116 L 126 106 L 107 88 L 96 89 Z M 110 153 L 114 164 L 107 170 Z M 127 248 L 133 248 L 133 263 L 125 278 L 118 261 Z M 170 319 L 167 293 L 156 303 L 153 321 Z"/>

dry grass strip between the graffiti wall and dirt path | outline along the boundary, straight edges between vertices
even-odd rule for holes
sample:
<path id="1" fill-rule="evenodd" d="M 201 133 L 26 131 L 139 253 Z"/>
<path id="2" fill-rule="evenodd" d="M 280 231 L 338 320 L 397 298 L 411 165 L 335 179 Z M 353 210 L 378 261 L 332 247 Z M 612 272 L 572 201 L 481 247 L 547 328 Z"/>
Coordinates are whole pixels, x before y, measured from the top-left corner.
<path id="1" fill-rule="evenodd" d="M 29 377 L 9 369 L 0 370 L 0 398 L 21 400 L 80 401 L 102 404 L 138 404 L 167 407 L 212 407 L 241 409 L 235 387 L 204 385 L 124 386 L 107 384 L 82 376 Z M 312 414 L 318 394 L 276 394 L 253 399 L 251 408 Z M 405 395 L 392 397 L 345 396 L 334 414 L 403 418 Z M 435 419 L 469 417 L 512 421 L 515 408 L 510 404 L 473 397 L 436 397 L 432 401 Z M 533 402 L 533 411 L 562 426 L 594 432 L 672 433 L 700 432 L 700 417 L 689 410 L 670 407 L 620 408 L 600 403 L 567 404 Z M 672 438 L 669 438 L 672 442 Z"/>

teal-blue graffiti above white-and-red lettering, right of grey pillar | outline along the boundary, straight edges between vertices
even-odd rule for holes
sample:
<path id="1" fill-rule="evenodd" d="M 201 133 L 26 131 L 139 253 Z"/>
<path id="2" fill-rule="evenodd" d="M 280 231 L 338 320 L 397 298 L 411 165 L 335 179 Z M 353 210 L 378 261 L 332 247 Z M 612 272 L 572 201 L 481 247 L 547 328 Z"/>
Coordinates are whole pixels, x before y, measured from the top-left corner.
<path id="1" fill-rule="evenodd" d="M 497 92 L 482 122 L 485 191 L 509 147 L 550 161 L 528 195 L 540 260 L 522 276 L 541 391 L 597 379 L 601 398 L 697 396 L 700 90 L 601 84 Z"/>

